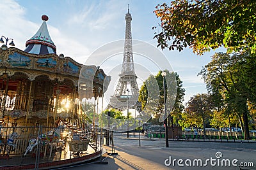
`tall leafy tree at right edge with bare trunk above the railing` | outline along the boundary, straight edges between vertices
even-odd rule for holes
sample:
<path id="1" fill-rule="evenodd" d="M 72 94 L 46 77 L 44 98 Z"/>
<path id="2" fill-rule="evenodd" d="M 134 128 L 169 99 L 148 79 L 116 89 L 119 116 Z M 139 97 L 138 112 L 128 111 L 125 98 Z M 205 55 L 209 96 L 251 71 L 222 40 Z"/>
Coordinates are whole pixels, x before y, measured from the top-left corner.
<path id="1" fill-rule="evenodd" d="M 250 138 L 247 103 L 248 100 L 255 101 L 255 87 L 252 86 L 255 78 L 245 75 L 248 69 L 252 69 L 252 65 L 248 62 L 250 57 L 253 55 L 248 55 L 248 53 L 239 55 L 215 53 L 212 55 L 211 62 L 199 73 L 204 78 L 209 92 L 223 100 L 227 108 L 225 111 L 228 114 L 237 113 L 246 139 Z"/>

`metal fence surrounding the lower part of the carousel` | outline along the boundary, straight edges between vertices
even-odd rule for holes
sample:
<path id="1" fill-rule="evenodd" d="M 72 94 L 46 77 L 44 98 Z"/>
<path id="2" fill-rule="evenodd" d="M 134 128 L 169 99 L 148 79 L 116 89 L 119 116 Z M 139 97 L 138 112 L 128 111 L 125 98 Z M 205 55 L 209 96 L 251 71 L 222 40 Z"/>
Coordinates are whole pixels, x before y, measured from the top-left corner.
<path id="1" fill-rule="evenodd" d="M 40 162 L 49 160 L 70 159 L 74 153 L 69 152 L 67 143 L 75 136 L 78 137 L 76 140 L 89 140 L 90 146 L 97 152 L 102 144 L 100 134 L 100 129 L 97 128 L 76 128 L 66 125 L 57 128 L 0 127 L 0 159 L 12 157 L 12 161 L 0 161 L 0 167 L 15 164 L 38 166 Z M 75 157 L 75 154 L 72 157 Z"/>

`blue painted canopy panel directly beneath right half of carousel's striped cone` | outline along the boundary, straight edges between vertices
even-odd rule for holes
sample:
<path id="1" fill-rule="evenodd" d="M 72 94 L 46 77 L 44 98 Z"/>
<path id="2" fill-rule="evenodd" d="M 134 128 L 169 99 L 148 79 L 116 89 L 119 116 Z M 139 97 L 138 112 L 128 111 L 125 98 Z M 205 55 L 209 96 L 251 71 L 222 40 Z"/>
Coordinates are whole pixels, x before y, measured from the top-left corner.
<path id="1" fill-rule="evenodd" d="M 36 60 L 35 68 L 54 71 L 56 65 L 57 65 L 56 60 L 52 59 L 51 57 L 41 58 L 41 59 Z"/>

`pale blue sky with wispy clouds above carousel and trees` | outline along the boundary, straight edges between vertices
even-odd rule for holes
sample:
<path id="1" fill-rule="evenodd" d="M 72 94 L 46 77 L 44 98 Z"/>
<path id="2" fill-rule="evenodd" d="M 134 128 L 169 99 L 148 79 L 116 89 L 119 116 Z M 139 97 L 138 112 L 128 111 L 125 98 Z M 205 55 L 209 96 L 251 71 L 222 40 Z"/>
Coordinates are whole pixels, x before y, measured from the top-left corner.
<path id="1" fill-rule="evenodd" d="M 132 38 L 157 46 L 154 32 L 161 29 L 152 27 L 160 23 L 154 15 L 157 4 L 170 1 L 0 1 L 0 36 L 13 38 L 15 47 L 25 49 L 25 43 L 42 24 L 42 15 L 47 15 L 47 27 L 57 54 L 63 53 L 77 62 L 84 61 L 100 46 L 125 38 L 125 13 L 129 4 L 132 15 Z M 159 48 L 161 51 L 161 49 Z M 203 66 L 211 61 L 215 52 L 223 52 L 223 48 L 195 55 L 190 48 L 182 52 L 163 50 L 163 54 L 177 72 L 186 90 L 184 103 L 198 93 L 205 93 L 204 80 L 197 74 Z M 122 61 L 122 55 L 119 58 Z M 134 61 L 136 59 L 134 58 Z M 147 63 L 145 63 L 147 66 Z M 104 70 L 104 67 L 102 67 Z M 104 70 L 105 71 L 105 70 Z M 108 71 L 107 71 L 108 72 Z M 108 73 L 107 73 L 108 74 Z M 141 81 L 138 82 L 139 86 Z"/>

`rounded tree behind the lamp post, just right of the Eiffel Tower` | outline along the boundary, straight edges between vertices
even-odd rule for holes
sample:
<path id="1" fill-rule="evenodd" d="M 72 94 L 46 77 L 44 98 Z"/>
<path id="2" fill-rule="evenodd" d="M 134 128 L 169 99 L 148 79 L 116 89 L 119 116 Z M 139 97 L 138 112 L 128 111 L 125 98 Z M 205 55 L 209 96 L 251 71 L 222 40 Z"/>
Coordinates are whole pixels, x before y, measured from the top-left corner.
<path id="1" fill-rule="evenodd" d="M 179 74 L 177 73 L 170 73 L 170 71 L 165 71 L 167 74 L 170 74 L 171 77 L 175 78 L 175 86 L 177 87 L 177 92 L 175 93 L 175 103 L 173 104 L 173 108 L 171 111 L 172 117 L 174 121 L 177 121 L 180 118 L 181 112 L 184 109 L 184 106 L 182 102 L 184 101 L 184 95 L 185 95 L 185 89 L 182 88 L 182 81 L 179 78 Z M 152 108 L 148 107 L 148 109 L 152 110 L 152 114 L 154 115 L 154 118 L 152 118 L 151 122 L 158 122 L 159 123 L 159 116 L 164 110 L 164 93 L 163 93 L 163 76 L 161 75 L 162 71 L 159 71 L 156 76 L 150 75 L 147 80 L 143 82 L 143 85 L 140 89 L 140 96 L 138 100 L 141 102 L 141 108 L 142 110 L 145 109 L 145 106 L 151 105 Z M 152 83 L 154 80 L 157 81 L 156 88 L 159 88 L 159 96 L 157 98 L 157 101 L 150 101 L 148 100 L 148 88 L 147 85 Z M 167 80 L 166 80 L 167 81 Z M 166 87 L 167 89 L 167 87 Z M 155 103 L 155 104 L 148 104 L 148 102 Z M 155 108 L 156 106 L 156 108 Z M 150 111 L 147 110 L 147 111 Z"/>

